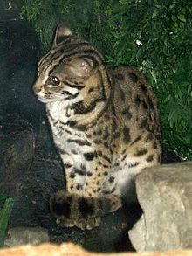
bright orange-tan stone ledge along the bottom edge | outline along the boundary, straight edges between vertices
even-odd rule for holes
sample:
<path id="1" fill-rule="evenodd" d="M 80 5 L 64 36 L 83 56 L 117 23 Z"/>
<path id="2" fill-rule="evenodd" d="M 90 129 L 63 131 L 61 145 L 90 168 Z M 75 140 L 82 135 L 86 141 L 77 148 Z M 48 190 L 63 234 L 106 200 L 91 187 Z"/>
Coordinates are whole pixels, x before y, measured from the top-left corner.
<path id="1" fill-rule="evenodd" d="M 192 251 L 168 253 L 90 253 L 80 246 L 62 244 L 60 246 L 44 244 L 40 246 L 20 246 L 0 250 L 0 256 L 191 256 Z"/>

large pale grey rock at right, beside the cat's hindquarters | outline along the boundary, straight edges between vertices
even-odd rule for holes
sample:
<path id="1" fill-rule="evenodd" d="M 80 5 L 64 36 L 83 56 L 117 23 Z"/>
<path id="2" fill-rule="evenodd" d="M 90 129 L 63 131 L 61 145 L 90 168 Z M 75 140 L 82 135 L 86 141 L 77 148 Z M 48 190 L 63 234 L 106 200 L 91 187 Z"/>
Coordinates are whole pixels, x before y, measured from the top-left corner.
<path id="1" fill-rule="evenodd" d="M 143 170 L 136 191 L 143 215 L 129 238 L 137 252 L 192 248 L 192 162 Z"/>

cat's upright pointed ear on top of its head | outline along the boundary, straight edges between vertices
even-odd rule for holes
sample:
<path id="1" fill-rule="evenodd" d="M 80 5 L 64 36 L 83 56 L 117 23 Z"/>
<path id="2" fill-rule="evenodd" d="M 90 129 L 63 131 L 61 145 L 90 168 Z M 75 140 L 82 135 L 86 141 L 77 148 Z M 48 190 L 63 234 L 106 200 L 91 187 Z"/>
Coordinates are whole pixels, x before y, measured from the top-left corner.
<path id="1" fill-rule="evenodd" d="M 52 48 L 57 47 L 58 44 L 61 43 L 66 37 L 70 36 L 72 36 L 72 31 L 65 24 L 59 24 L 55 33 Z"/>

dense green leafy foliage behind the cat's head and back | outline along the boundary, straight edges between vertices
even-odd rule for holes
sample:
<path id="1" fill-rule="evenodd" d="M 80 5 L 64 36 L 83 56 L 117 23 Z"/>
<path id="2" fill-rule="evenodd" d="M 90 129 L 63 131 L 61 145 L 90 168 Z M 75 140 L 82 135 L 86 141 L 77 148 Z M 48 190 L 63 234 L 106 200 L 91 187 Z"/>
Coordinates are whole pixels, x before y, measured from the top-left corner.
<path id="1" fill-rule="evenodd" d="M 188 0 L 23 0 L 21 16 L 45 51 L 64 22 L 108 66 L 140 68 L 159 98 L 164 148 L 192 159 L 191 9 Z"/>

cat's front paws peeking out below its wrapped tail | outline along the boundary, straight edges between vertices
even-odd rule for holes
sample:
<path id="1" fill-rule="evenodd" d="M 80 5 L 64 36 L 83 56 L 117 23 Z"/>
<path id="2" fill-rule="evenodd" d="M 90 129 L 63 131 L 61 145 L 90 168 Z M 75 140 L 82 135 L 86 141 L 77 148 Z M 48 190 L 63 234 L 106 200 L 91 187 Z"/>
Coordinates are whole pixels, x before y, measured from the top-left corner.
<path id="1" fill-rule="evenodd" d="M 100 225 L 100 218 L 57 218 L 56 223 L 61 227 L 77 226 L 81 230 L 92 230 Z"/>

